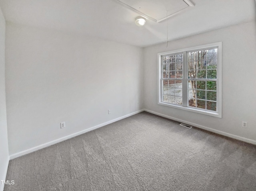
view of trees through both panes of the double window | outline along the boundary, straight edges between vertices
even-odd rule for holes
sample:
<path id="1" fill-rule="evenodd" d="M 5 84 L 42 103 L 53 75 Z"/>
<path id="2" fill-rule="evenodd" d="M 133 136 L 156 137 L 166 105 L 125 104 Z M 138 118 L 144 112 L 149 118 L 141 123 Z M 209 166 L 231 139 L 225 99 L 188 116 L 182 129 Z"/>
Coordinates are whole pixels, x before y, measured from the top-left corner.
<path id="1" fill-rule="evenodd" d="M 186 52 L 187 79 L 183 79 L 183 53 L 162 56 L 162 101 L 182 105 L 182 81 L 187 83 L 187 104 L 216 111 L 217 48 Z"/>

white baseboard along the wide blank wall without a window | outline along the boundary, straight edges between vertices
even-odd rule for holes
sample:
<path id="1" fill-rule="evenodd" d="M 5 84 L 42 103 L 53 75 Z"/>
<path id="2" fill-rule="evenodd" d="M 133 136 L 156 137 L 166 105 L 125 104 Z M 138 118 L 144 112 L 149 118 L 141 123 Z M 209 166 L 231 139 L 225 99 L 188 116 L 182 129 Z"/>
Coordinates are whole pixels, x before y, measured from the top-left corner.
<path id="1" fill-rule="evenodd" d="M 53 140 L 53 141 L 50 141 L 50 142 L 41 144 L 41 145 L 39 145 L 39 146 L 36 146 L 36 147 L 30 148 L 30 149 L 27 149 L 27 150 L 24 150 L 24 151 L 21 151 L 21 152 L 12 154 L 12 155 L 10 155 L 10 160 L 11 160 L 11 159 L 14 159 L 14 158 L 17 158 L 17 157 L 20 157 L 20 156 L 23 156 L 23 155 L 25 155 L 25 154 L 29 154 L 29 153 L 31 153 L 31 152 L 40 150 L 40 149 L 42 149 L 42 148 L 46 148 L 46 147 L 51 146 L 51 145 L 54 145 L 54 144 L 56 144 L 56 143 L 59 143 L 59 142 L 68 140 L 68 139 L 70 139 L 70 138 L 76 137 L 76 136 L 78 136 L 78 135 L 81 135 L 81 134 L 84 134 L 84 133 L 86 133 L 86 132 L 92 131 L 92 130 L 94 130 L 94 129 L 100 128 L 100 127 L 102 127 L 102 126 L 108 125 L 108 124 L 110 124 L 110 123 L 119 121 L 119 120 L 121 120 L 121 119 L 130 117 L 130 116 L 135 115 L 135 114 L 138 114 L 138 113 L 140 113 L 140 112 L 142 112 L 142 111 L 144 111 L 144 110 L 143 110 L 143 109 L 142 109 L 142 110 L 138 110 L 138 111 L 136 111 L 136 112 L 133 112 L 133 113 L 124 115 L 124 116 L 122 116 L 122 117 L 119 117 L 119 118 L 110 120 L 110 121 L 108 121 L 108 122 L 104 122 L 104 123 L 102 123 L 102 124 L 99 124 L 99 125 L 93 126 L 93 127 L 91 127 L 91 128 L 82 130 L 82 131 L 80 131 L 80 132 L 76 132 L 76 133 L 74 133 L 74 134 L 70 134 L 70 135 L 68 135 L 68 136 L 65 136 L 65 137 L 62 137 L 62 138 L 59 138 L 59 139 L 56 139 L 56 140 Z"/>

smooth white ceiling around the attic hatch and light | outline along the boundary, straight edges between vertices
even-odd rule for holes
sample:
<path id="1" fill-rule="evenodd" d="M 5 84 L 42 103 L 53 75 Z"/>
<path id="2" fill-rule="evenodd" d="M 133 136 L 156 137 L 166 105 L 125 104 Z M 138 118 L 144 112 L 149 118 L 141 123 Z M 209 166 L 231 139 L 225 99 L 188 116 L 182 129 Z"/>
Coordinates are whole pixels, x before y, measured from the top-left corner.
<path id="1" fill-rule="evenodd" d="M 168 18 L 169 40 L 256 20 L 255 0 L 191 1 L 194 7 Z M 7 22 L 92 35 L 140 47 L 166 41 L 166 20 L 148 19 L 144 26 L 138 27 L 134 24 L 138 13 L 116 0 L 0 0 L 0 7 Z"/>

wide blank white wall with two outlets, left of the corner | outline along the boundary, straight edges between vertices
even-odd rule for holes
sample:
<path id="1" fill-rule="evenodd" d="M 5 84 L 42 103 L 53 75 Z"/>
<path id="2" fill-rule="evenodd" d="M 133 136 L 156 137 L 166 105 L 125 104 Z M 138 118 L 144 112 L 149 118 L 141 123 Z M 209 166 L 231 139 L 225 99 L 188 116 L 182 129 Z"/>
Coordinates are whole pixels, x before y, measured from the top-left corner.
<path id="1" fill-rule="evenodd" d="M 10 155 L 140 110 L 142 51 L 7 22 Z"/>

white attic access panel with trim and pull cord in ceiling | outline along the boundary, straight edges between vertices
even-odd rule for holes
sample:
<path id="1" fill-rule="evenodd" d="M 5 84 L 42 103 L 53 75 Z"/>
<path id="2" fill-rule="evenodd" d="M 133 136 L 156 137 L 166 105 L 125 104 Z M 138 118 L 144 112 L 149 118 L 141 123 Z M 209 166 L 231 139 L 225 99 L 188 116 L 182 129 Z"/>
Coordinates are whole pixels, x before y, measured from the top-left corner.
<path id="1" fill-rule="evenodd" d="M 122 6 L 141 16 L 160 22 L 188 9 L 194 4 L 190 0 L 115 0 Z"/>

